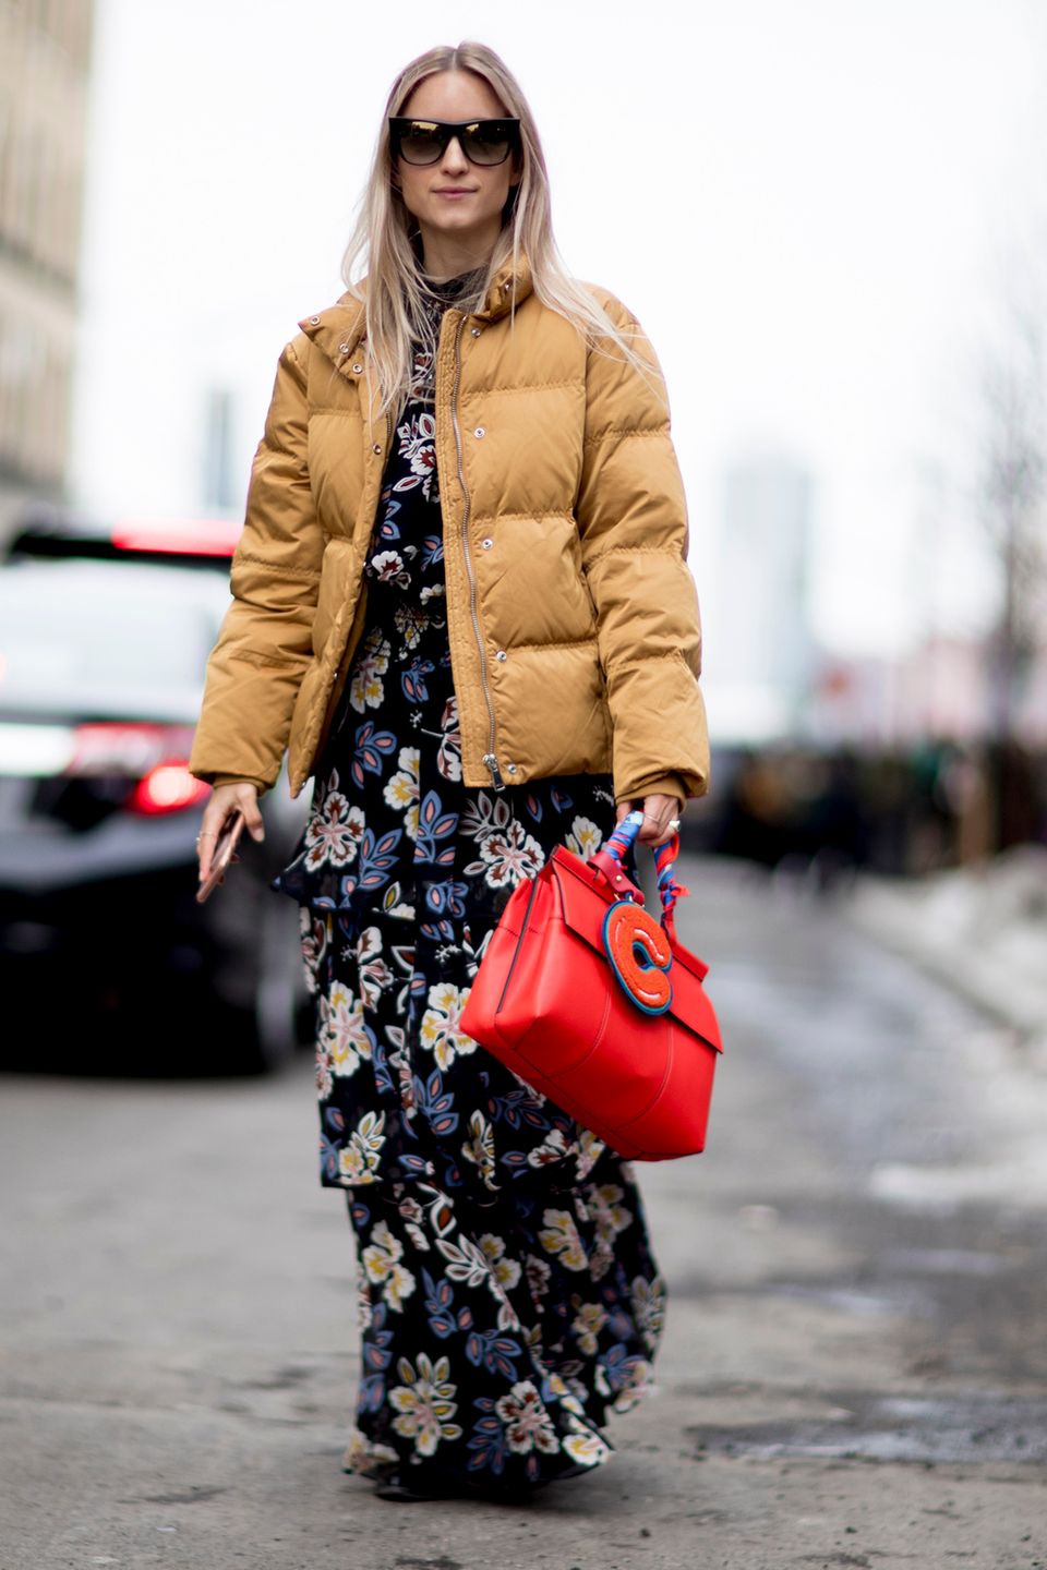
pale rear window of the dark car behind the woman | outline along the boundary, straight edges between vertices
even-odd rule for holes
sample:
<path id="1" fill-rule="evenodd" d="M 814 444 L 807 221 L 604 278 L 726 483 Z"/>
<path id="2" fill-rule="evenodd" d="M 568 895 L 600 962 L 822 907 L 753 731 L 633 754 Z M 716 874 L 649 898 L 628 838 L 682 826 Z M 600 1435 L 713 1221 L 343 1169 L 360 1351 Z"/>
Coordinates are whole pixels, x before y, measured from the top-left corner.
<path id="1" fill-rule="evenodd" d="M 192 568 L 0 568 L 0 710 L 193 721 L 229 589 Z"/>

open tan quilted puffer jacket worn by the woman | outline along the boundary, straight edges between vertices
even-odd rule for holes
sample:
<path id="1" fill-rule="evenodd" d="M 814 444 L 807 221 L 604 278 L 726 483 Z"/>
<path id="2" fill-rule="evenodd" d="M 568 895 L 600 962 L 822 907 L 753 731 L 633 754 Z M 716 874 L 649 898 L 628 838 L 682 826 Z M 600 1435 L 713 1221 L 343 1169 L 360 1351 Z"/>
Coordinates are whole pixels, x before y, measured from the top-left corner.
<path id="1" fill-rule="evenodd" d="M 614 772 L 618 801 L 702 794 L 708 743 L 686 509 L 659 391 L 505 268 L 444 316 L 436 465 L 463 779 Z M 626 333 L 636 323 L 598 294 Z M 193 772 L 268 788 L 312 772 L 366 614 L 363 565 L 391 424 L 363 308 L 284 349 L 207 667 Z M 639 341 L 642 352 L 644 341 Z"/>

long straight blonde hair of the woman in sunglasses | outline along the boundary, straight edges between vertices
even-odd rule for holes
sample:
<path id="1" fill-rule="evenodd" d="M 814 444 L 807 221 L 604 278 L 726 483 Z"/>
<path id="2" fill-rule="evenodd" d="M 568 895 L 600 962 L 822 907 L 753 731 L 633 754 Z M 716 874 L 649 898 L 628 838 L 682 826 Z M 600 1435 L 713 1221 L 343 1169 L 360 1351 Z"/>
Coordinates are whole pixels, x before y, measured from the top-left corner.
<path id="1" fill-rule="evenodd" d="M 653 375 L 661 386 L 658 366 L 637 353 L 629 342 L 629 330 L 623 331 L 615 325 L 595 295 L 564 267 L 553 239 L 545 155 L 531 105 L 520 83 L 493 49 L 485 44 L 461 42 L 455 49 L 441 46 L 427 50 L 405 66 L 392 83 L 359 215 L 342 262 L 342 276 L 350 294 L 364 303 L 366 333 L 383 413 L 400 408 L 408 394 L 413 345 L 421 342 L 430 352 L 436 347 L 433 320 L 425 311 L 425 300 L 432 300 L 432 292 L 427 289 L 414 246 L 411 215 L 394 184 L 389 116 L 402 115 L 414 88 L 443 71 L 471 71 L 487 82 L 504 113 L 520 121 L 516 155 L 520 181 L 505 203 L 502 231 L 487 270 L 479 273 L 476 294 L 457 305 L 466 312 L 482 309 L 498 270 L 510 262 L 513 273 L 518 273 L 521 259 L 526 257 L 534 292 L 545 306 L 571 322 L 590 344 L 604 352 L 620 353 L 648 380 Z M 512 309 L 515 308 L 513 295 Z"/>

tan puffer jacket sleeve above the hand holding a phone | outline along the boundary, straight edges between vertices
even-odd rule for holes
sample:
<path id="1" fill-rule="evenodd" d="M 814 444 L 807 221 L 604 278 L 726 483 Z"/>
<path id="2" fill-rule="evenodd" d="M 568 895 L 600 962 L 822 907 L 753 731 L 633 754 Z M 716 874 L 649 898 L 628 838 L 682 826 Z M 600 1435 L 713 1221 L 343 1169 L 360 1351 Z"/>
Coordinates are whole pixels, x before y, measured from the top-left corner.
<path id="1" fill-rule="evenodd" d="M 279 356 L 232 557 L 232 604 L 207 664 L 190 768 L 209 782 L 276 782 L 312 658 L 323 532 L 309 488 L 303 347 L 297 339 Z"/>

